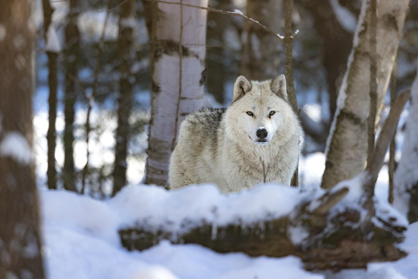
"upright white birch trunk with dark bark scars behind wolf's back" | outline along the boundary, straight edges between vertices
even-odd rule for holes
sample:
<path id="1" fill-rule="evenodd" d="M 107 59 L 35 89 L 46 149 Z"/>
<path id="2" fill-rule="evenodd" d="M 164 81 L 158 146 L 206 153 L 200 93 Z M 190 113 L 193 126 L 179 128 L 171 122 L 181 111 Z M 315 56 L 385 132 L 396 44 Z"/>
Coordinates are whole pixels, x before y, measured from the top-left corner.
<path id="1" fill-rule="evenodd" d="M 207 7 L 207 0 L 172 0 Z M 151 119 L 145 183 L 165 186 L 181 121 L 204 95 L 206 10 L 153 3 Z"/>

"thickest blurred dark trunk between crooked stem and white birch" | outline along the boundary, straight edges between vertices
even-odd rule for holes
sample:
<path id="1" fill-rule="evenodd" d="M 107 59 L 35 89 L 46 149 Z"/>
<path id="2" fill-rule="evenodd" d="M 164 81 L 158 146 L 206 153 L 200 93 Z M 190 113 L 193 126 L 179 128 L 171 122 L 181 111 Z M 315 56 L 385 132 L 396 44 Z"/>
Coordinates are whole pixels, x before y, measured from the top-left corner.
<path id="1" fill-rule="evenodd" d="M 119 11 L 119 40 L 118 55 L 120 63 L 120 92 L 118 97 L 117 109 L 117 129 L 115 146 L 115 166 L 113 169 L 113 195 L 115 195 L 126 184 L 126 156 L 127 143 L 129 139 L 129 116 L 132 107 L 133 89 L 130 79 L 132 79 L 131 67 L 135 59 L 133 50 L 133 25 L 135 19 L 134 1 L 128 0 L 120 6 Z"/>

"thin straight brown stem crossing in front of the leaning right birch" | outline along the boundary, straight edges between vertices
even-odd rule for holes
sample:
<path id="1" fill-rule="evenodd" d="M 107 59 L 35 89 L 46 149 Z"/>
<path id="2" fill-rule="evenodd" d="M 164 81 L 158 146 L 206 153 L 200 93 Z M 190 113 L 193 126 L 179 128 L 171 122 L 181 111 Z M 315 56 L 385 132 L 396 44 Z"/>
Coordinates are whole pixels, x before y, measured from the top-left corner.
<path id="1" fill-rule="evenodd" d="M 377 111 L 377 0 L 370 0 L 370 109 L 367 118 L 367 164 L 375 149 Z"/>

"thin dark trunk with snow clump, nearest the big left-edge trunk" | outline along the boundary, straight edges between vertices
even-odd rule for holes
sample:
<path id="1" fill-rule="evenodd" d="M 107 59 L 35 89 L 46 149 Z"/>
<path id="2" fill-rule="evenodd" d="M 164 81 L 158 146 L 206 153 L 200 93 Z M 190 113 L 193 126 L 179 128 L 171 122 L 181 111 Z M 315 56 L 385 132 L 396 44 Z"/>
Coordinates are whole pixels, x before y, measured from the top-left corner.
<path id="1" fill-rule="evenodd" d="M 49 28 L 53 28 L 52 14 L 54 9 L 48 0 L 42 0 L 43 7 L 43 32 L 45 34 L 46 45 L 48 46 L 48 33 Z M 55 147 L 56 147 L 56 107 L 57 107 L 57 87 L 58 87 L 58 53 L 47 49 L 46 54 L 48 55 L 48 116 L 49 125 L 48 132 L 46 134 L 46 140 L 48 141 L 48 170 L 46 176 L 48 177 L 48 189 L 56 189 L 56 168 L 55 168 Z"/>

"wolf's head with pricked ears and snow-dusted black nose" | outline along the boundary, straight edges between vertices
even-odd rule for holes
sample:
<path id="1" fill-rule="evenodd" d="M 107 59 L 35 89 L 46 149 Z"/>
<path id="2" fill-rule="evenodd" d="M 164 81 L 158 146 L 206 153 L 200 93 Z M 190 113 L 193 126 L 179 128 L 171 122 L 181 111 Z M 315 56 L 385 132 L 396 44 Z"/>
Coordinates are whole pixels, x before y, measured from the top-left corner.
<path id="1" fill-rule="evenodd" d="M 264 146 L 293 134 L 295 122 L 283 74 L 263 82 L 237 78 L 232 104 L 226 112 L 229 138 Z"/>

